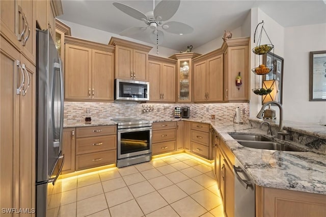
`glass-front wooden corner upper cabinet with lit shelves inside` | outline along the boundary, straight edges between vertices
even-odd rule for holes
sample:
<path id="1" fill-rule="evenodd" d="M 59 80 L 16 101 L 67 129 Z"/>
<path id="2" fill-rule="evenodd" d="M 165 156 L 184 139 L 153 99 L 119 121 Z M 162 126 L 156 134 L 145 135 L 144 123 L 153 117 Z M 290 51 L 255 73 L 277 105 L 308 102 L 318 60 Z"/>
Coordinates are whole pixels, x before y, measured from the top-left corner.
<path id="1" fill-rule="evenodd" d="M 176 102 L 192 102 L 192 59 L 198 56 L 198 53 L 185 52 L 170 57 L 177 60 Z"/>

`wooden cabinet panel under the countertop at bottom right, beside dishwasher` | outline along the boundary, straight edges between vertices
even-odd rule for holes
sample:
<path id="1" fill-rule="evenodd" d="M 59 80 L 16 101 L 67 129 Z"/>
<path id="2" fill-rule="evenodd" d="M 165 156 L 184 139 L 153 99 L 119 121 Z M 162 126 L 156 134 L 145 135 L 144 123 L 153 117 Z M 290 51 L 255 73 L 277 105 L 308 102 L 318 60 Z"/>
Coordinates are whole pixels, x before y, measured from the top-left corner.
<path id="1" fill-rule="evenodd" d="M 326 195 L 256 185 L 256 216 L 325 216 Z"/>

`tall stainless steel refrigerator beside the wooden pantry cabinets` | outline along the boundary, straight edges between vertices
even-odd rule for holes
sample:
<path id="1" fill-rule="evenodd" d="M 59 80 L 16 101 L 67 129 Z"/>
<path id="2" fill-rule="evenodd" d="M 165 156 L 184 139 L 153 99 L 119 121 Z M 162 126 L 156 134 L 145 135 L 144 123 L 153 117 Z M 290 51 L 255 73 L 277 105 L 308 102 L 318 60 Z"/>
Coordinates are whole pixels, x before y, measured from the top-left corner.
<path id="1" fill-rule="evenodd" d="M 36 42 L 36 216 L 44 217 L 61 199 L 63 67 L 48 31 L 37 30 Z"/>

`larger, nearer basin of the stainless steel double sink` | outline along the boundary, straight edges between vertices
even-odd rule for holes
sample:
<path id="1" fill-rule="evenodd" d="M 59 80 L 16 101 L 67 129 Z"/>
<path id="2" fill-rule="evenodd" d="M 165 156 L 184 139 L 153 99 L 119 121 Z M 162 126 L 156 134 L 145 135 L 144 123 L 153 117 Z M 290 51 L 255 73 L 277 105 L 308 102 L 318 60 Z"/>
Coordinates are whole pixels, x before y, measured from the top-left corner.
<path id="1" fill-rule="evenodd" d="M 248 148 L 279 150 L 279 151 L 304 151 L 299 148 L 288 146 L 285 144 L 275 142 L 261 142 L 261 141 L 237 141 L 240 145 Z"/>

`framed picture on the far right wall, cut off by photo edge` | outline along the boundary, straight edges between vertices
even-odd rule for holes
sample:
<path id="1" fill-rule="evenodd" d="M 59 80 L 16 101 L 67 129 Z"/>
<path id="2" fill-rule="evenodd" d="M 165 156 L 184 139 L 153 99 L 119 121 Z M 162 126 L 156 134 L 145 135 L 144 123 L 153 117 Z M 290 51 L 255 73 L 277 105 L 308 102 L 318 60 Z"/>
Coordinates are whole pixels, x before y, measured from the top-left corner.
<path id="1" fill-rule="evenodd" d="M 326 50 L 311 51 L 309 101 L 326 101 Z"/>

